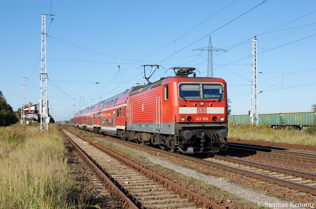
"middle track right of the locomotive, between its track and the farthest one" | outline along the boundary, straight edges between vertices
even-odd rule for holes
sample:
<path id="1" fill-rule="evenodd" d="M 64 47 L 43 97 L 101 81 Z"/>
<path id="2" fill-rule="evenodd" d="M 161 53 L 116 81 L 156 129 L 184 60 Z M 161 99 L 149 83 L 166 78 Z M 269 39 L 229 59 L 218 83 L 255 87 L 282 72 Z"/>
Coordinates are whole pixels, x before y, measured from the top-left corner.
<path id="1" fill-rule="evenodd" d="M 243 146 L 243 145 L 233 144 L 233 146 Z M 285 159 L 290 159 L 290 160 L 298 160 L 298 161 L 316 163 L 316 155 L 315 154 L 307 154 L 307 153 L 291 152 L 291 151 L 283 151 L 283 150 L 273 150 L 273 149 L 266 149 L 266 148 L 258 148 L 257 149 L 257 147 L 248 147 L 248 146 L 243 146 L 243 147 L 251 148 L 251 150 L 245 149 L 245 148 L 232 147 L 232 144 L 229 146 L 229 149 L 245 150 L 245 151 L 254 152 L 254 153 L 260 154 L 260 155 L 267 155 L 267 156 L 280 157 L 280 158 L 285 158 Z M 259 150 L 264 150 L 264 149 L 266 151 L 259 151 Z M 301 155 L 301 156 L 298 156 L 298 155 Z"/>

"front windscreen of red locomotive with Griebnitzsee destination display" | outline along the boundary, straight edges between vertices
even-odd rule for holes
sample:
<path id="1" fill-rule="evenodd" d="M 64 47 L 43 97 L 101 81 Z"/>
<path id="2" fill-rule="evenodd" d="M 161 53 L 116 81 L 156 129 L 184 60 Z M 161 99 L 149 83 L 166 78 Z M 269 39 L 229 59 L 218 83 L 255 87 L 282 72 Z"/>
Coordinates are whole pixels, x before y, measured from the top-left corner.
<path id="1" fill-rule="evenodd" d="M 223 85 L 220 83 L 181 83 L 180 99 L 222 99 Z"/>

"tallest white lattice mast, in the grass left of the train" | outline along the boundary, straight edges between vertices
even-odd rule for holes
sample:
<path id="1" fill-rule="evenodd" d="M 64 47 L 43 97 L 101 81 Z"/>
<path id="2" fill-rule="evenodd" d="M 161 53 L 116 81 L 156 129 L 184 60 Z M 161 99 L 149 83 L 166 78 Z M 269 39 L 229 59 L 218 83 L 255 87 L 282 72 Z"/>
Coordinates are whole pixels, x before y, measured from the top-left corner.
<path id="1" fill-rule="evenodd" d="M 51 14 L 42 14 L 42 65 L 40 73 L 40 89 L 41 89 L 41 100 L 40 100 L 40 130 L 46 128 L 48 130 L 48 104 L 47 104 L 47 68 L 46 68 L 46 16 L 52 16 Z"/>

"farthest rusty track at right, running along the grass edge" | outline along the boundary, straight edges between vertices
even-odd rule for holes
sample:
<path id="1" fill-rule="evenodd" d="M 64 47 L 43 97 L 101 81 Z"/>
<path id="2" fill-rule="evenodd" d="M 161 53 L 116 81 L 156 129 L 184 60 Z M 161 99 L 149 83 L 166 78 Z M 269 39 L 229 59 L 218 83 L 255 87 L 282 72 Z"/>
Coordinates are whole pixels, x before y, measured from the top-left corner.
<path id="1" fill-rule="evenodd" d="M 228 143 L 240 143 L 240 144 L 255 144 L 262 146 L 276 146 L 287 149 L 303 149 L 310 150 L 316 152 L 316 146 L 313 145 L 302 145 L 302 144 L 286 144 L 286 143 L 278 143 L 278 142 L 267 142 L 267 141 L 255 141 L 255 140 L 245 140 L 245 139 L 237 139 L 237 138 L 227 138 Z"/>

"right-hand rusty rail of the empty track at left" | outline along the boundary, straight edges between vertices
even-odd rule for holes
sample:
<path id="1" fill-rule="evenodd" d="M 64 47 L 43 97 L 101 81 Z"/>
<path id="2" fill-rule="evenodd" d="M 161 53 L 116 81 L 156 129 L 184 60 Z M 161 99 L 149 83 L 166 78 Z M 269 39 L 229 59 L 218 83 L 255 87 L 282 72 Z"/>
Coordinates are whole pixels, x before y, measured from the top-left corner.
<path id="1" fill-rule="evenodd" d="M 70 130 L 67 130 L 70 133 L 76 135 L 78 138 L 81 138 L 82 140 L 89 142 L 91 145 L 93 145 L 94 147 L 96 147 L 97 149 L 107 153 L 108 155 L 111 155 L 113 158 L 116 158 L 117 160 L 124 162 L 126 165 L 131 166 L 133 169 L 137 170 L 138 172 L 143 173 L 146 177 L 153 179 L 154 181 L 157 181 L 159 184 L 162 184 L 164 187 L 168 187 L 169 190 L 172 190 L 174 192 L 174 194 L 179 194 L 180 197 L 182 198 L 188 198 L 189 202 L 195 202 L 197 207 L 206 207 L 206 208 L 212 208 L 212 209 L 225 209 L 224 207 L 200 196 L 195 194 L 194 192 L 191 192 L 188 189 L 185 189 L 169 180 L 167 180 L 166 178 L 163 178 L 159 175 L 157 175 L 154 172 L 149 171 L 146 168 L 143 168 L 139 165 L 137 165 L 136 163 L 129 161 L 127 159 L 125 159 L 122 156 L 119 156 L 118 154 L 107 150 L 106 148 L 100 146 L 99 144 L 94 143 L 93 141 L 89 140 L 88 138 L 82 137 L 77 133 L 74 133 Z M 135 143 L 134 143 L 135 145 Z"/>

